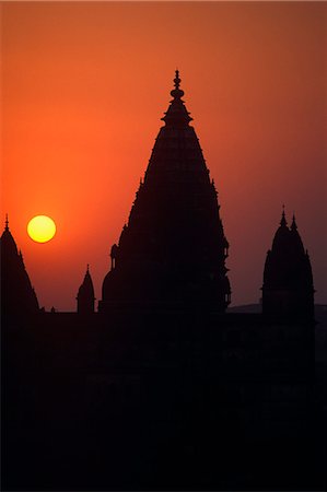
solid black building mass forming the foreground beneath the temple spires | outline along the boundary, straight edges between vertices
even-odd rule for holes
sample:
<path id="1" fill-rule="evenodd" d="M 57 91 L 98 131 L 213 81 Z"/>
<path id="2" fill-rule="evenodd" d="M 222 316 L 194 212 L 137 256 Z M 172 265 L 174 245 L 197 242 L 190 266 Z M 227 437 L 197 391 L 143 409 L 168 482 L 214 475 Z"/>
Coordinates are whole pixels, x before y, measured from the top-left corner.
<path id="1" fill-rule="evenodd" d="M 2 490 L 324 490 L 314 329 L 197 312 L 3 319 Z"/>

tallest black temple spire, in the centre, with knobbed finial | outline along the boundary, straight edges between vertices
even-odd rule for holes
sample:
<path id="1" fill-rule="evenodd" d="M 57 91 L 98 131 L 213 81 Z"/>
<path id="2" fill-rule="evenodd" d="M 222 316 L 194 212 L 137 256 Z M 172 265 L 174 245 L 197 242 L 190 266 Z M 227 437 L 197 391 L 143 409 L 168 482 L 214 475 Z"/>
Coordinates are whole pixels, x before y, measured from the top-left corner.
<path id="1" fill-rule="evenodd" d="M 128 224 L 112 248 L 102 312 L 125 304 L 223 312 L 231 302 L 218 192 L 189 125 L 178 70 L 174 84 Z"/>

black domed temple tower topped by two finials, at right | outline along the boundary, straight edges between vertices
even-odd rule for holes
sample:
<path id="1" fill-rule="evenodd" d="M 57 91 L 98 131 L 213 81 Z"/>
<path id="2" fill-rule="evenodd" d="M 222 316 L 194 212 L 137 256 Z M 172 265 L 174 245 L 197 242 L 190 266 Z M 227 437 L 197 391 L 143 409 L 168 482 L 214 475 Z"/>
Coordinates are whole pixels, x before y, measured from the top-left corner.
<path id="1" fill-rule="evenodd" d="M 288 227 L 282 212 L 271 249 L 267 253 L 262 312 L 291 318 L 313 318 L 314 286 L 310 257 L 297 232 L 295 216 Z"/>

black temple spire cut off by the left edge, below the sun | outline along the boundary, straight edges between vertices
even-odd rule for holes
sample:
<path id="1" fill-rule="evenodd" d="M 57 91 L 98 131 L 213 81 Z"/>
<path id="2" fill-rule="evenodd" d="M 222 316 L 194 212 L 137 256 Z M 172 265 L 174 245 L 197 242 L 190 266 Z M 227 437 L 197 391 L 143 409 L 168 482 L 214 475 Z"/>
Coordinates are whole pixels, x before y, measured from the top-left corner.
<path id="1" fill-rule="evenodd" d="M 9 230 L 8 219 L 1 236 L 1 312 L 26 315 L 38 312 L 38 302 L 25 270 L 22 253 Z"/>

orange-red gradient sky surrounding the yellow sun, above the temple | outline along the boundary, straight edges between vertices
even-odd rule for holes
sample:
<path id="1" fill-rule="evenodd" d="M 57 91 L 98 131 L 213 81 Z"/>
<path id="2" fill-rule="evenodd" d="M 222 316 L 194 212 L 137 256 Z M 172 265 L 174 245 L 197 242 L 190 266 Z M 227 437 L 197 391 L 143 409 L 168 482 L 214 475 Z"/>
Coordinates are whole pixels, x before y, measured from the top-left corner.
<path id="1" fill-rule="evenodd" d="M 258 302 L 282 203 L 327 303 L 325 2 L 2 2 L 2 220 L 47 309 L 97 300 L 176 67 L 230 242 L 233 304 Z M 28 238 L 37 214 L 57 223 Z"/>

